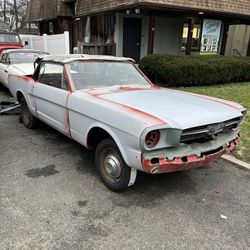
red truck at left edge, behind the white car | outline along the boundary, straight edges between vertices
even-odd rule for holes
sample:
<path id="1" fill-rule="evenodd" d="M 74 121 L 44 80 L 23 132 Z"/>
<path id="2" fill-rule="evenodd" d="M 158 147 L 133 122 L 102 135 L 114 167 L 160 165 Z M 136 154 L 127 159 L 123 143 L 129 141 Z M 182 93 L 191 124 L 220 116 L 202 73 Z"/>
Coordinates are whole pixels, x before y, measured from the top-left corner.
<path id="1" fill-rule="evenodd" d="M 17 33 L 0 31 L 0 55 L 5 49 L 20 49 L 22 41 Z"/>

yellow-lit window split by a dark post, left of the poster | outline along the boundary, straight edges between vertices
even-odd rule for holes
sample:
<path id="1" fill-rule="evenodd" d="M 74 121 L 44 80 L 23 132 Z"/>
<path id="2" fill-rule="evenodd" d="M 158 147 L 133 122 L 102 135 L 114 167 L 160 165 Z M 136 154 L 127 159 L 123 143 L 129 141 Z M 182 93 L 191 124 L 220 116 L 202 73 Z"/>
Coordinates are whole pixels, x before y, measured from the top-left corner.
<path id="1" fill-rule="evenodd" d="M 189 33 L 189 23 L 184 23 L 183 27 L 183 35 L 182 35 L 182 52 L 186 53 L 187 46 L 188 46 L 188 33 Z M 192 32 L 192 45 L 191 45 L 191 51 L 192 52 L 200 52 L 201 48 L 201 30 L 202 30 L 202 24 L 201 23 L 195 23 L 193 25 L 193 32 Z"/>

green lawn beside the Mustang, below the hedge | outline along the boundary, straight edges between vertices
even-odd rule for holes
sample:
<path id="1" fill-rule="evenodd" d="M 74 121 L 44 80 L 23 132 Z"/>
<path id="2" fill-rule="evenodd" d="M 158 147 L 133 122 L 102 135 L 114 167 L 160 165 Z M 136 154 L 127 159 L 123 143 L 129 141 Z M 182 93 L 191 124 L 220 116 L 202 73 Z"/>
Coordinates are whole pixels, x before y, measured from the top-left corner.
<path id="1" fill-rule="evenodd" d="M 241 127 L 239 158 L 241 160 L 250 162 L 250 82 L 201 87 L 179 87 L 176 89 L 202 95 L 214 96 L 243 105 L 248 110 L 248 115 Z"/>

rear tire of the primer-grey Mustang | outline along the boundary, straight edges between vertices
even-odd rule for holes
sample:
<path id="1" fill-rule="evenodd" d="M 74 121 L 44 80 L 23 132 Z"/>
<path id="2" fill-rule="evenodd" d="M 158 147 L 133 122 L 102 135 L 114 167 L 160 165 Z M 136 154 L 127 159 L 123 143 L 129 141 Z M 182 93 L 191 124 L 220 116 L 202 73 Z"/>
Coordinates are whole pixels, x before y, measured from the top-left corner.
<path id="1" fill-rule="evenodd" d="M 31 114 L 24 97 L 21 98 L 20 104 L 21 104 L 20 121 L 23 122 L 25 127 L 29 128 L 29 129 L 37 128 L 38 120 L 35 116 L 33 116 Z"/>

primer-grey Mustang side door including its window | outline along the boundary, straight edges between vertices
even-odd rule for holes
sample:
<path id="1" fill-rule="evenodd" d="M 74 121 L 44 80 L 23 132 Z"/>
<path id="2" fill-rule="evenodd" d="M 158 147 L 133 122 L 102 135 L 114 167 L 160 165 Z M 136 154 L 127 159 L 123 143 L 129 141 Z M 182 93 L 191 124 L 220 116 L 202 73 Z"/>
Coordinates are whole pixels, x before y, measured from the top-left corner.
<path id="1" fill-rule="evenodd" d="M 37 116 L 66 135 L 70 134 L 67 109 L 69 94 L 63 65 L 43 63 L 33 87 Z"/>

